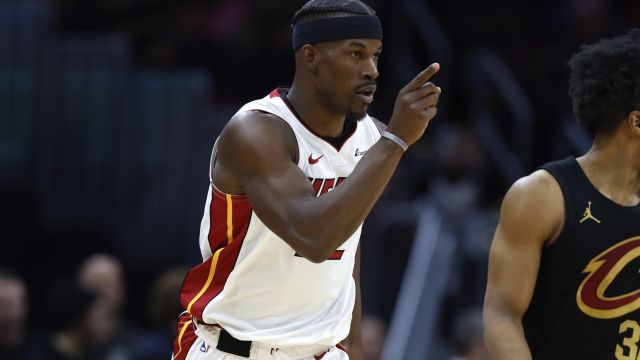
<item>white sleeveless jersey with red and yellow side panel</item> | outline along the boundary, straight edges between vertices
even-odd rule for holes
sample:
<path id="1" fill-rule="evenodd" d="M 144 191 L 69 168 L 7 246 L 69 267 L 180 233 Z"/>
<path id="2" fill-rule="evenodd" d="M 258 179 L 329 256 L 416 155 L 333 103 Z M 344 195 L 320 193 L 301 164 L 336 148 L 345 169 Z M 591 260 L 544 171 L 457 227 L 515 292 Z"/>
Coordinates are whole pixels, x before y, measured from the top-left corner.
<path id="1" fill-rule="evenodd" d="M 322 196 L 340 186 L 380 133 L 367 115 L 336 148 L 297 118 L 282 90 L 238 113 L 262 111 L 289 124 L 298 142 L 297 165 Z M 239 340 L 335 345 L 349 334 L 361 229 L 327 261 L 314 264 L 269 230 L 245 195 L 225 194 L 211 182 L 200 230 L 204 262 L 187 275 L 180 300 L 199 322 L 219 324 Z"/>

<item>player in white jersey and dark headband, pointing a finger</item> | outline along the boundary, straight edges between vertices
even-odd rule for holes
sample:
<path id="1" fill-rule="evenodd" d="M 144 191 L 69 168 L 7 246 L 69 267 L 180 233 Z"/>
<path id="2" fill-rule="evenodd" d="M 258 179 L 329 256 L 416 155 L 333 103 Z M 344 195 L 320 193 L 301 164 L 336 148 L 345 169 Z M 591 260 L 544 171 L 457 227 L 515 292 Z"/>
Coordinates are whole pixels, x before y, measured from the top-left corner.
<path id="1" fill-rule="evenodd" d="M 374 14 L 356 0 L 308 2 L 293 19 L 293 85 L 222 131 L 174 359 L 362 359 L 362 223 L 440 95 L 433 64 L 400 91 L 386 131 L 367 115 L 382 50 Z"/>

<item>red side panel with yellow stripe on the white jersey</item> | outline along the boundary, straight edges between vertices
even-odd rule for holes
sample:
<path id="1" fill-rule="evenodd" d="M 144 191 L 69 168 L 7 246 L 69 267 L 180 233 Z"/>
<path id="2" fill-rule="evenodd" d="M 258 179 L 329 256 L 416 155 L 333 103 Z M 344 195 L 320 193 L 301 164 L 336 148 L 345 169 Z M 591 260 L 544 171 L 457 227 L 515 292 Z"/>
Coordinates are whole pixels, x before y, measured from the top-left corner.
<path id="1" fill-rule="evenodd" d="M 182 306 L 201 322 L 204 308 L 224 289 L 235 267 L 251 213 L 245 195 L 224 194 L 212 186 L 208 239 L 213 255 L 189 271 L 180 291 Z"/>

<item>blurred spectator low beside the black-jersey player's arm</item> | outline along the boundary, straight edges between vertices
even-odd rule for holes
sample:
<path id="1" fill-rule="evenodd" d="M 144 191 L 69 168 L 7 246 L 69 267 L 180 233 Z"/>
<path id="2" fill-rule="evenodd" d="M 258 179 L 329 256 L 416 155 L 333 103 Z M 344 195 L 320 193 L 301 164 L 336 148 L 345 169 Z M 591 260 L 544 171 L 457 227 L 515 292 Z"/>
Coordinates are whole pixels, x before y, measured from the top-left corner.
<path id="1" fill-rule="evenodd" d="M 491 360 L 484 343 L 482 309 L 471 308 L 456 316 L 453 324 L 453 346 L 456 357 L 451 360 Z"/>

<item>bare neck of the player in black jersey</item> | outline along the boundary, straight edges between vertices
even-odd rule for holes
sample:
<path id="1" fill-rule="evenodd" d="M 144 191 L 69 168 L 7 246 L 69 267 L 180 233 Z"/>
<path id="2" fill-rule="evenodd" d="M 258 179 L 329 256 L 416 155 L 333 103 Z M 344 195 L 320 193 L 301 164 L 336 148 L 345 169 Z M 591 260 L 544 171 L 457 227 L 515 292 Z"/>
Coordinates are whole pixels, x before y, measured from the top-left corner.
<path id="1" fill-rule="evenodd" d="M 578 158 L 591 183 L 624 206 L 640 202 L 640 149 L 630 145 L 635 144 L 620 139 L 620 135 L 598 135 L 589 152 Z"/>

